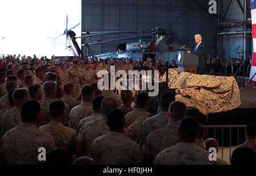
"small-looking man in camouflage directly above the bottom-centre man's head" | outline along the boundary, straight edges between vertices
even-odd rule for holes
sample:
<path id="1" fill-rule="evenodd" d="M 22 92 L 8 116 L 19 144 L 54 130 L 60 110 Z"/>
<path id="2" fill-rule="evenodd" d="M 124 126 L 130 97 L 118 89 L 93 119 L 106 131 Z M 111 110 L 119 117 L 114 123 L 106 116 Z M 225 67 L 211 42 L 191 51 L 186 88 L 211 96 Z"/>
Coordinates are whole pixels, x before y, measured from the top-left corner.
<path id="1" fill-rule="evenodd" d="M 130 90 L 122 91 L 121 100 L 123 101 L 123 105 L 120 110 L 124 115 L 134 109 L 133 106 L 131 106 L 133 103 L 133 93 Z"/>

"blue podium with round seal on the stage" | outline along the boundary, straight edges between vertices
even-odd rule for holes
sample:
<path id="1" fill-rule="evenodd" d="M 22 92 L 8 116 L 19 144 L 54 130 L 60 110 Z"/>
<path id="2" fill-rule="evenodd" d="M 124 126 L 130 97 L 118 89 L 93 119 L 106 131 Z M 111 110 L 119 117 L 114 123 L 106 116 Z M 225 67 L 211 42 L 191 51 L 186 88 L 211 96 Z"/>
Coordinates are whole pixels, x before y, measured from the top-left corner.
<path id="1" fill-rule="evenodd" d="M 197 74 L 199 57 L 195 54 L 190 54 L 187 51 L 177 51 L 176 64 L 180 73 L 185 71 Z"/>

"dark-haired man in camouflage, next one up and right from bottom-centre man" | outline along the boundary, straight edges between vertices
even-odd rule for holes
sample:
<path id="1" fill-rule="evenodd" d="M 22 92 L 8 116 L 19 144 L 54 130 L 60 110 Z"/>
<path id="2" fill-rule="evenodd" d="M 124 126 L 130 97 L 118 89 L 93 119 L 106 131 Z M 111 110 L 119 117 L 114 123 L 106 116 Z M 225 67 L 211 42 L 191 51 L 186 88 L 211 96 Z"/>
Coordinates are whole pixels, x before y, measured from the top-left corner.
<path id="1" fill-rule="evenodd" d="M 125 115 L 125 126 L 128 127 L 139 117 L 149 117 L 150 113 L 146 111 L 148 106 L 148 96 L 147 93 L 140 93 L 135 99 L 135 108 Z"/>

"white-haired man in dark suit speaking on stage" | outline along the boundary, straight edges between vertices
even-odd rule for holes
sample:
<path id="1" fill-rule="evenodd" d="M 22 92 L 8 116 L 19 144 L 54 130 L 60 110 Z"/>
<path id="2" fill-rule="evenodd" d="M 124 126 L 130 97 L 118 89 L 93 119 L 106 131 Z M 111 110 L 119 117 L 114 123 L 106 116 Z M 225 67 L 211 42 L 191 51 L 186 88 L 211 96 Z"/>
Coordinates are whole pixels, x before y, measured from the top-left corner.
<path id="1" fill-rule="evenodd" d="M 202 36 L 197 34 L 195 35 L 196 47 L 192 51 L 193 54 L 198 55 L 199 57 L 199 66 L 197 67 L 197 74 L 204 74 L 205 72 L 205 45 L 202 42 Z M 191 51 L 188 51 L 191 53 Z"/>

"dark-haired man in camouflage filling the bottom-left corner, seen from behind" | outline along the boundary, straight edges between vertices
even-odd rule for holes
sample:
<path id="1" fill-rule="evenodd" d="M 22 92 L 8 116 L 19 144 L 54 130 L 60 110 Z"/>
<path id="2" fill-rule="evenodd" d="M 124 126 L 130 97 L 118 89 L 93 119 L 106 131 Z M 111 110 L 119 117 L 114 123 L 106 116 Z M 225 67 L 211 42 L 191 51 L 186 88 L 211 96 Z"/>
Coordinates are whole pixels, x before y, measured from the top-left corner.
<path id="1" fill-rule="evenodd" d="M 38 160 L 38 149 L 44 147 L 49 152 L 55 148 L 55 143 L 51 135 L 36 127 L 40 121 L 39 103 L 34 100 L 24 102 L 20 116 L 22 123 L 3 136 L 1 160 L 8 165 L 43 164 Z"/>

